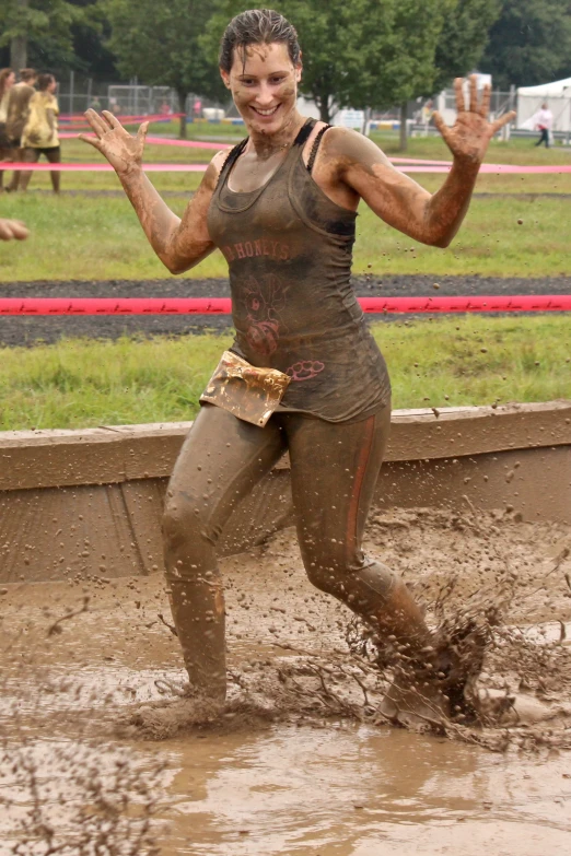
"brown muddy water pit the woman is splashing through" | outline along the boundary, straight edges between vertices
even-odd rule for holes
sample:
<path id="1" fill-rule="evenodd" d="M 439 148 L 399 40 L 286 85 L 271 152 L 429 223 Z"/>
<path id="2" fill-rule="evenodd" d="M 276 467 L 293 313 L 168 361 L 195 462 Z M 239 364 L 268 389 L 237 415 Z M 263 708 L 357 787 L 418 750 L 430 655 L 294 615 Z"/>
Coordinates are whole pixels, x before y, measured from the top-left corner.
<path id="1" fill-rule="evenodd" d="M 500 610 L 483 724 L 417 735 L 375 714 L 387 676 L 292 530 L 222 562 L 230 702 L 201 724 L 159 575 L 5 585 L 0 854 L 568 854 L 569 527 L 377 512 L 366 547 L 433 624 Z"/>

